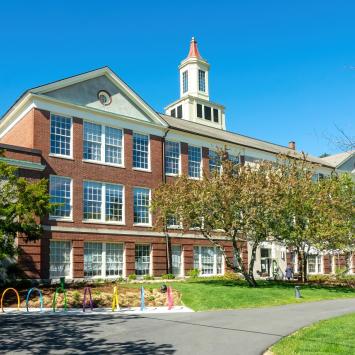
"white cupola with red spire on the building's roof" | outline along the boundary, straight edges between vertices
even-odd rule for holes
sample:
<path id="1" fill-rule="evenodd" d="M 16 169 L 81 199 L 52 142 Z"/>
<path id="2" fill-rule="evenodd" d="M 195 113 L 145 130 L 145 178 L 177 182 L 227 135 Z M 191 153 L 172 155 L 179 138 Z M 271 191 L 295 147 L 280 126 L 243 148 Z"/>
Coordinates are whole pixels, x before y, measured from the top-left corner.
<path id="1" fill-rule="evenodd" d="M 189 54 L 179 65 L 180 99 L 165 107 L 167 115 L 226 129 L 224 106 L 210 101 L 209 70 L 192 37 Z"/>

